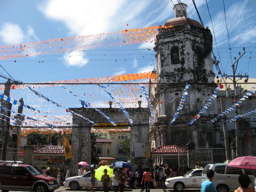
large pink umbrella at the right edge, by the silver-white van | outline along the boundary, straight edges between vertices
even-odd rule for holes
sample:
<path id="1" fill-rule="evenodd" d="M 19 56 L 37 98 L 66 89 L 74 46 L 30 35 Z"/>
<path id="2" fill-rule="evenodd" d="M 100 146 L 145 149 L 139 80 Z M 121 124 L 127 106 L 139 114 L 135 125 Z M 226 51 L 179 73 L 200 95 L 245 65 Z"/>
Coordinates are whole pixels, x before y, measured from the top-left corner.
<path id="1" fill-rule="evenodd" d="M 229 167 L 239 167 L 242 169 L 256 169 L 256 157 L 255 156 L 243 156 L 237 157 L 230 161 Z"/>

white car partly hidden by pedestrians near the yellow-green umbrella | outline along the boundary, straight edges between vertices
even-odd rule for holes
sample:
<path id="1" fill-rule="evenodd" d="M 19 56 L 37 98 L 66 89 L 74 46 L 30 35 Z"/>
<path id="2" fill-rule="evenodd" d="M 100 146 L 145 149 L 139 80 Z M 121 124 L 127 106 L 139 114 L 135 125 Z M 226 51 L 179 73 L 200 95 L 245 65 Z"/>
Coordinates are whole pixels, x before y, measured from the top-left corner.
<path id="1" fill-rule="evenodd" d="M 77 189 L 81 187 L 91 187 L 91 172 L 87 172 L 82 176 L 76 176 L 76 177 L 69 177 L 65 179 L 63 182 L 64 187 L 70 187 L 73 191 L 76 191 Z M 96 178 L 95 178 L 96 179 Z M 102 182 L 100 182 L 98 179 L 96 179 L 95 182 L 95 188 L 102 188 Z M 113 187 L 110 187 L 111 190 L 113 190 Z"/>

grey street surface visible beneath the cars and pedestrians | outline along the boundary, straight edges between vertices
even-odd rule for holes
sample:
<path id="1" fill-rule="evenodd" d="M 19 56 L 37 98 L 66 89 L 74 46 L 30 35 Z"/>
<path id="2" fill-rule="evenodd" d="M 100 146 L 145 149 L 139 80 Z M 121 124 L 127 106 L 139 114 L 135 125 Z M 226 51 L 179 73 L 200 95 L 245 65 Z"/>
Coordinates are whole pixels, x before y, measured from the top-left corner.
<path id="1" fill-rule="evenodd" d="M 81 188 L 78 190 L 79 192 L 87 192 L 87 191 L 90 191 L 88 190 L 88 188 Z M 94 188 L 94 191 L 97 191 L 97 192 L 101 192 L 103 191 L 103 189 L 97 189 L 97 188 Z M 130 188 L 125 188 L 124 191 L 127 191 L 127 192 L 145 192 L 145 189 L 130 189 Z M 9 191 L 9 192 L 17 192 L 17 191 Z M 66 188 L 66 187 L 60 187 L 58 189 L 56 189 L 54 192 L 75 192 L 75 191 L 72 191 L 70 188 Z M 150 192 L 175 192 L 173 189 L 168 189 L 168 188 L 161 188 L 161 189 L 150 189 Z M 200 192 L 200 189 L 184 189 L 184 192 Z"/>

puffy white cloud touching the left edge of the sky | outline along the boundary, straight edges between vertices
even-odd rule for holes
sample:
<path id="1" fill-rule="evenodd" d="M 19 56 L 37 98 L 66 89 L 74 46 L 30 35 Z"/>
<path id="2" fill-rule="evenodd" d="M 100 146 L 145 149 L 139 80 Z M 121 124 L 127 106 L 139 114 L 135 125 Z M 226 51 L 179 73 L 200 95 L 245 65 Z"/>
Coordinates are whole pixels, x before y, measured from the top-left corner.
<path id="1" fill-rule="evenodd" d="M 5 44 L 18 44 L 24 40 L 24 34 L 19 25 L 4 23 L 0 30 L 0 37 Z"/>

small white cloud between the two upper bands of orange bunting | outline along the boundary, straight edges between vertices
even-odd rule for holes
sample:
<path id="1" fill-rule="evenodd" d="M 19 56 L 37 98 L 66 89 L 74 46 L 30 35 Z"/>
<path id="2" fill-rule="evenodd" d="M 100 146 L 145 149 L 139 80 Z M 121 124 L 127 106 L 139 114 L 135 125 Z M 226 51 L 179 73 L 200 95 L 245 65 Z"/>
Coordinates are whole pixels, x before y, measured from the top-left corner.
<path id="1" fill-rule="evenodd" d="M 77 52 L 75 51 L 70 52 L 69 55 L 64 56 L 64 60 L 65 63 L 70 67 L 83 67 L 88 63 L 87 58 L 85 58 L 83 55 L 77 55 Z"/>

